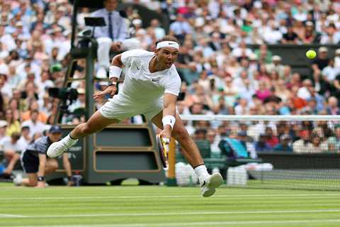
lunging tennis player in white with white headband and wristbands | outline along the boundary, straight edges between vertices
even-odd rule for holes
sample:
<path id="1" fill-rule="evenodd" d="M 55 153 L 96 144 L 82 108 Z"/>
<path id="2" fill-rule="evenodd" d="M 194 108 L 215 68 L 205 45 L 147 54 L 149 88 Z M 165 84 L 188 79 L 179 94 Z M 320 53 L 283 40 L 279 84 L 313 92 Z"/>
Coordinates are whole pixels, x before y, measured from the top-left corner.
<path id="1" fill-rule="evenodd" d="M 157 41 L 154 52 L 129 50 L 113 57 L 108 87 L 94 94 L 94 99 L 115 94 L 122 67 L 125 67 L 125 79 L 119 93 L 108 99 L 89 121 L 81 123 L 62 140 L 52 143 L 47 155 L 62 155 L 79 138 L 101 131 L 125 118 L 144 114 L 162 129 L 160 135 L 164 143 L 169 143 L 171 135 L 179 141 L 184 157 L 198 175 L 202 195 L 206 197 L 214 194 L 215 188 L 222 184 L 222 176 L 220 173 L 209 175 L 196 143 L 188 135 L 176 112 L 176 100 L 181 87 L 181 79 L 174 65 L 178 53 L 179 41 L 166 35 Z"/>

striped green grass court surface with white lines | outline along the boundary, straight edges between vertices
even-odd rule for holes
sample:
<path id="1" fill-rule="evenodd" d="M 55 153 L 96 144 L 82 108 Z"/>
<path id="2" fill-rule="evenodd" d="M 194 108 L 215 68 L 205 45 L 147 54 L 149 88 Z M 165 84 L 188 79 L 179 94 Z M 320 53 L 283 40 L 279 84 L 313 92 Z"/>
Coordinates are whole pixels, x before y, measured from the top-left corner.
<path id="1" fill-rule="evenodd" d="M 340 226 L 340 192 L 1 183 L 0 226 Z"/>

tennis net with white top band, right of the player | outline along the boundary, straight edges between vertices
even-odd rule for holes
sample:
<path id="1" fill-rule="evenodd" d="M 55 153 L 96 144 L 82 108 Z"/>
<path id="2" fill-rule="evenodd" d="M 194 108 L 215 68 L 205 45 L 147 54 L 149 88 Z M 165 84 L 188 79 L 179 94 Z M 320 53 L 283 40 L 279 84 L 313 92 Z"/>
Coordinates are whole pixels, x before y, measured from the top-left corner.
<path id="1" fill-rule="evenodd" d="M 181 118 L 205 164 L 230 186 L 340 189 L 340 116 Z"/>

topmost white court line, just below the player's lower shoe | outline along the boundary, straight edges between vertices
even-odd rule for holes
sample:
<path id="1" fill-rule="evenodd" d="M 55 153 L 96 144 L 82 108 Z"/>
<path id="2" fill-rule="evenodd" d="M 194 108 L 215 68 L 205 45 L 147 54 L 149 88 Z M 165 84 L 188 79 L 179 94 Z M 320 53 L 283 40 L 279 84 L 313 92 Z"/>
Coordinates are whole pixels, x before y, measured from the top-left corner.
<path id="1" fill-rule="evenodd" d="M 239 198 L 239 197 L 297 197 L 297 196 L 340 196 L 340 193 L 332 194 L 240 194 L 240 195 L 214 195 L 212 198 Z M 6 200 L 44 200 L 44 199 L 150 199 L 157 198 L 201 198 L 199 195 L 149 195 L 149 196 L 60 196 L 60 197 L 6 197 Z"/>

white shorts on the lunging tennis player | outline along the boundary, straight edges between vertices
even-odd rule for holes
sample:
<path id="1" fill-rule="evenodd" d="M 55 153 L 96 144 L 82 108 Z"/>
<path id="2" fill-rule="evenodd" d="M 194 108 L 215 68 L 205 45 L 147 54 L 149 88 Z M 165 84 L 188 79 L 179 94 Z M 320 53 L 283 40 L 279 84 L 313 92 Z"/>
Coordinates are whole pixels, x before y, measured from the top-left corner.
<path id="1" fill-rule="evenodd" d="M 159 114 L 163 109 L 163 101 L 159 99 L 154 103 L 140 103 L 123 99 L 122 96 L 115 95 L 112 99 L 108 99 L 106 104 L 101 106 L 99 112 L 105 118 L 118 119 L 119 121 L 132 116 L 144 114 L 148 120 L 151 120 Z"/>

